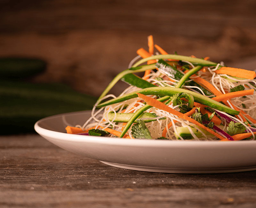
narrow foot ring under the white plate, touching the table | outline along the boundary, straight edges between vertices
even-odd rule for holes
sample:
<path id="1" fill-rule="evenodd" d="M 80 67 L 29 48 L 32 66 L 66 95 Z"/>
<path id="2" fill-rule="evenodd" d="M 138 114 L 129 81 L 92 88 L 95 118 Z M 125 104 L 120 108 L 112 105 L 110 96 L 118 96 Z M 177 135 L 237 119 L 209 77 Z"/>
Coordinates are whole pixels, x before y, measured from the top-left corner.
<path id="1" fill-rule="evenodd" d="M 244 171 L 255 171 L 256 166 L 251 167 L 235 167 L 235 168 L 161 168 L 161 167 L 147 167 L 137 165 L 125 165 L 117 163 L 109 163 L 100 161 L 106 165 L 110 165 L 117 168 L 124 168 L 134 171 L 146 171 L 146 172 L 162 172 L 162 173 L 228 173 L 228 172 L 244 172 Z"/>

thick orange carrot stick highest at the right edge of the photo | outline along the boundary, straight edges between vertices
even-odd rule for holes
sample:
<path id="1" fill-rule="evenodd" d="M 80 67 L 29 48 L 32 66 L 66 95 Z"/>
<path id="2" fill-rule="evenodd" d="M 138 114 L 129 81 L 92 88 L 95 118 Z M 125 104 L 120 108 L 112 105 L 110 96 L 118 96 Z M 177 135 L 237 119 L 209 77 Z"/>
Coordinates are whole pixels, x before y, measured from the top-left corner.
<path id="1" fill-rule="evenodd" d="M 255 71 L 250 71 L 242 68 L 221 67 L 215 71 L 216 74 L 227 74 L 245 79 L 254 79 L 256 77 Z"/>

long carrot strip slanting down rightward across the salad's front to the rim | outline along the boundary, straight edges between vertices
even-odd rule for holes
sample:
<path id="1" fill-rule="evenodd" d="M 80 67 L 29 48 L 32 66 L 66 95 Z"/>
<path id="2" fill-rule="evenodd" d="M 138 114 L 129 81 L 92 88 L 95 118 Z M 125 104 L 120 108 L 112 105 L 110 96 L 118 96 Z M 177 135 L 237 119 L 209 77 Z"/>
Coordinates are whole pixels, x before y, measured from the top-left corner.
<path id="1" fill-rule="evenodd" d="M 185 119 L 185 120 L 187 120 L 187 121 L 189 121 L 189 122 L 191 122 L 191 123 L 193 123 L 193 124 L 196 124 L 196 125 L 198 125 L 199 127 L 201 127 L 202 129 L 204 129 L 205 131 L 207 131 L 207 132 L 213 134 L 214 136 L 218 137 L 220 140 L 225 139 L 223 136 L 217 134 L 216 132 L 214 132 L 214 131 L 212 131 L 211 129 L 207 128 L 207 127 L 204 126 L 203 124 L 200 124 L 200 123 L 197 122 L 195 119 L 192 119 L 192 118 L 190 118 L 190 117 L 188 117 L 188 116 L 186 116 L 186 115 L 184 115 L 184 114 L 182 114 L 182 113 L 180 113 L 180 112 L 178 112 L 178 111 L 176 111 L 176 110 L 174 110 L 174 109 L 172 109 L 172 108 L 166 106 L 164 103 L 162 103 L 162 102 L 160 102 L 160 101 L 158 101 L 158 100 L 156 100 L 156 99 L 154 99 L 154 98 L 148 97 L 148 96 L 146 96 L 146 95 L 143 95 L 143 94 L 140 94 L 140 93 L 137 93 L 137 94 L 138 94 L 138 96 L 139 96 L 140 98 L 142 98 L 148 105 L 153 106 L 153 107 L 156 107 L 156 108 L 158 108 L 158 109 L 162 109 L 162 110 L 164 110 L 164 111 L 166 111 L 166 112 L 169 112 L 169 113 L 171 113 L 171 114 L 173 114 L 173 115 L 175 115 L 175 116 L 179 116 L 180 118 Z"/>

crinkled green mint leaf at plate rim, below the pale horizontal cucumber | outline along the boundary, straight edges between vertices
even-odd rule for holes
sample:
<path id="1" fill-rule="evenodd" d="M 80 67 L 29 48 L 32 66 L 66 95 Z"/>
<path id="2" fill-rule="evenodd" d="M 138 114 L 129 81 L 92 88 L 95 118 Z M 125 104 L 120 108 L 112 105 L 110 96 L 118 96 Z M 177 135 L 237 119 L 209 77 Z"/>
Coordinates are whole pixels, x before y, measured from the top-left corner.
<path id="1" fill-rule="evenodd" d="M 132 136 L 136 139 L 153 139 L 145 122 L 142 120 L 132 126 Z"/>

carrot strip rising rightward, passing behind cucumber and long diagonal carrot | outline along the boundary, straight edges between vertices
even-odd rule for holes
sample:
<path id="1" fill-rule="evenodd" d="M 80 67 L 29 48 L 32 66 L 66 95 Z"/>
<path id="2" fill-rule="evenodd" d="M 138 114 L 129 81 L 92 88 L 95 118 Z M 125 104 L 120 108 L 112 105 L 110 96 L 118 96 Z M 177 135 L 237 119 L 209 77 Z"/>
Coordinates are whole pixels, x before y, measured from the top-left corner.
<path id="1" fill-rule="evenodd" d="M 241 96 L 244 96 L 244 95 L 252 95 L 253 94 L 253 89 L 251 89 L 251 90 L 244 90 L 244 91 L 237 91 L 237 92 L 229 92 L 229 93 L 227 93 L 227 94 L 221 94 L 221 95 L 218 95 L 218 96 L 216 96 L 216 97 L 214 97 L 214 98 L 212 98 L 212 100 L 216 100 L 216 101 L 218 101 L 218 102 L 220 102 L 220 101 L 222 101 L 222 100 L 224 100 L 224 99 L 231 99 L 231 98 L 236 98 L 236 97 L 241 97 Z M 197 107 L 197 108 L 201 108 L 201 107 L 203 107 L 204 105 L 202 105 L 202 104 L 197 104 L 197 103 L 194 103 L 195 104 L 195 106 Z M 185 113 L 184 115 L 186 115 L 186 116 L 191 116 L 193 113 L 195 113 L 195 110 L 196 110 L 196 107 L 195 108 L 193 108 L 192 110 L 190 110 L 190 111 L 188 111 L 187 113 Z M 176 123 L 177 121 L 174 121 L 174 124 Z M 169 129 L 169 128 L 171 128 L 171 126 L 172 126 L 172 122 L 170 122 L 168 125 L 167 125 L 167 128 Z M 162 136 L 163 137 L 166 137 L 166 133 L 167 133 L 167 128 L 165 127 L 164 128 L 164 131 L 163 131 L 163 133 L 162 133 Z"/>

